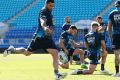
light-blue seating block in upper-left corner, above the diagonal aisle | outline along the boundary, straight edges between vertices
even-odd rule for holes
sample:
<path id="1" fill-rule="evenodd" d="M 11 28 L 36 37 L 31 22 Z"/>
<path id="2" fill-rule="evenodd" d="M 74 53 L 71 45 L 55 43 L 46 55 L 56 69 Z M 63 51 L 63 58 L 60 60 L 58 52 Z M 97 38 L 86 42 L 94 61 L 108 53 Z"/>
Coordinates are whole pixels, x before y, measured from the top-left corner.
<path id="1" fill-rule="evenodd" d="M 0 21 L 5 21 L 9 17 L 16 14 L 25 5 L 29 4 L 32 0 L 0 0 Z"/>

